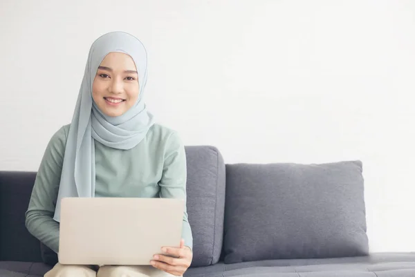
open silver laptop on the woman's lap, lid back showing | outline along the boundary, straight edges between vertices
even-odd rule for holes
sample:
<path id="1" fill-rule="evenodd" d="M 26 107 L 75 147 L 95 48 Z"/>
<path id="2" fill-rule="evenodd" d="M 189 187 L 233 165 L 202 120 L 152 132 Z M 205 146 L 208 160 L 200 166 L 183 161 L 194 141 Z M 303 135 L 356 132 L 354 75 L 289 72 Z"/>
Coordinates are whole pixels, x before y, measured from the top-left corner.
<path id="1" fill-rule="evenodd" d="M 179 247 L 184 201 L 170 198 L 64 198 L 63 265 L 149 265 L 161 247 Z"/>

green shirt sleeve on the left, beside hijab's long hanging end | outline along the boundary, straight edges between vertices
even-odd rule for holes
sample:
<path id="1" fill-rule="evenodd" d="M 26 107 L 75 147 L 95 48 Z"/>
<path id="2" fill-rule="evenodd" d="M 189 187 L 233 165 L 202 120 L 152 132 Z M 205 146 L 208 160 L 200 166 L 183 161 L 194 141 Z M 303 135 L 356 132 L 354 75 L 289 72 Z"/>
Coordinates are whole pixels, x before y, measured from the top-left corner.
<path id="1" fill-rule="evenodd" d="M 53 220 L 64 162 L 66 133 L 60 128 L 51 137 L 37 171 L 28 210 L 26 228 L 44 245 L 59 251 L 59 223 Z"/>

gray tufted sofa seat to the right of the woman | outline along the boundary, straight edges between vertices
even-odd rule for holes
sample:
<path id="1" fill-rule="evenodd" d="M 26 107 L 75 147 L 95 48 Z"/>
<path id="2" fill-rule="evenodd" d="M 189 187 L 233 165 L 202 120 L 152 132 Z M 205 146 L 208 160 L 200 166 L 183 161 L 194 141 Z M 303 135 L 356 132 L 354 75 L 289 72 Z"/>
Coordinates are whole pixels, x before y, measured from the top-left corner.
<path id="1" fill-rule="evenodd" d="M 350 258 L 261 260 L 191 268 L 185 277 L 413 277 L 414 253 L 381 253 Z"/>

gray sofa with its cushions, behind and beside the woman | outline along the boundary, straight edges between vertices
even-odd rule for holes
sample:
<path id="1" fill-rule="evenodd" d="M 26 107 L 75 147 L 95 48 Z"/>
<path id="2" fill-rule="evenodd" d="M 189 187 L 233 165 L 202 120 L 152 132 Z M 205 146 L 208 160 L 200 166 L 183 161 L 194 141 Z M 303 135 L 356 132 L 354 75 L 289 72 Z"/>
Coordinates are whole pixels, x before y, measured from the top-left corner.
<path id="1" fill-rule="evenodd" d="M 415 253 L 370 253 L 362 162 L 224 164 L 187 146 L 191 276 L 415 276 Z M 24 213 L 35 172 L 0 172 L 0 277 L 43 276 L 56 255 Z"/>

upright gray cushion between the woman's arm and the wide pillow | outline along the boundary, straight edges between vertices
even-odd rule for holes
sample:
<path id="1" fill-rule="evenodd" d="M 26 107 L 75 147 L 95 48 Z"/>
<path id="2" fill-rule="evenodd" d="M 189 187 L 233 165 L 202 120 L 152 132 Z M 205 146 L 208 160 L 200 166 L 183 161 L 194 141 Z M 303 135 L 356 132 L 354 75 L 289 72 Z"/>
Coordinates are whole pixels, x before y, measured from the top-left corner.
<path id="1" fill-rule="evenodd" d="M 219 261 L 225 213 L 225 164 L 212 146 L 187 146 L 187 213 L 193 233 L 192 267 Z"/>

